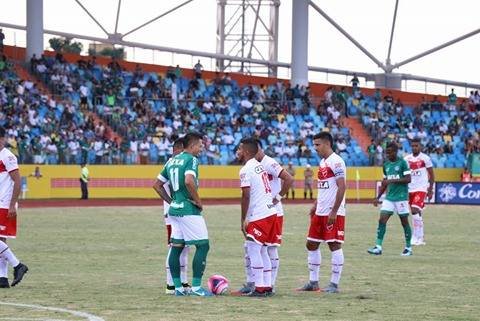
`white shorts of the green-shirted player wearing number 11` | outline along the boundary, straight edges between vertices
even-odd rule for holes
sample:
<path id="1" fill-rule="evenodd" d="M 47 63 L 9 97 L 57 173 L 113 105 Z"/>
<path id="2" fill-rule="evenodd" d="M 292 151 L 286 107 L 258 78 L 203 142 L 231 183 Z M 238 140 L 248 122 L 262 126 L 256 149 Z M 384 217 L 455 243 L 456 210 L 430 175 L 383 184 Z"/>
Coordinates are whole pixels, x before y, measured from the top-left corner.
<path id="1" fill-rule="evenodd" d="M 205 219 L 201 215 L 169 216 L 172 225 L 171 243 L 203 244 L 208 242 Z"/>

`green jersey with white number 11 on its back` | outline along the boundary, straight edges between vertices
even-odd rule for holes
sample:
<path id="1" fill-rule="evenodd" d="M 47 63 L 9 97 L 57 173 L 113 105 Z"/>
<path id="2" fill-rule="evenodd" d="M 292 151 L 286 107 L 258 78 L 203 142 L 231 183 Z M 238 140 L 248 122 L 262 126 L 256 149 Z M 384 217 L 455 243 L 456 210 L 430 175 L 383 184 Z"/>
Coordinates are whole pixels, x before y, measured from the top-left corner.
<path id="1" fill-rule="evenodd" d="M 198 159 L 192 154 L 182 152 L 171 158 L 158 176 L 162 182 L 170 184 L 172 192 L 172 203 L 168 210 L 170 216 L 201 215 L 200 209 L 191 202 L 190 193 L 185 186 L 187 174 L 195 177 L 198 189 Z"/>

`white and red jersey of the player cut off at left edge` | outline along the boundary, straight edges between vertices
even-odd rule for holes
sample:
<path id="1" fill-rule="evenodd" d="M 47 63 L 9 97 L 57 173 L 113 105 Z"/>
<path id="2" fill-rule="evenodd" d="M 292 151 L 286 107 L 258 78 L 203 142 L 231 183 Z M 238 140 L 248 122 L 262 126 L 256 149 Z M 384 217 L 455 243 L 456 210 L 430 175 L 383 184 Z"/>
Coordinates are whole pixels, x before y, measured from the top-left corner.
<path id="1" fill-rule="evenodd" d="M 14 182 L 9 173 L 17 169 L 17 157 L 3 148 L 0 151 L 0 208 L 10 208 Z"/>

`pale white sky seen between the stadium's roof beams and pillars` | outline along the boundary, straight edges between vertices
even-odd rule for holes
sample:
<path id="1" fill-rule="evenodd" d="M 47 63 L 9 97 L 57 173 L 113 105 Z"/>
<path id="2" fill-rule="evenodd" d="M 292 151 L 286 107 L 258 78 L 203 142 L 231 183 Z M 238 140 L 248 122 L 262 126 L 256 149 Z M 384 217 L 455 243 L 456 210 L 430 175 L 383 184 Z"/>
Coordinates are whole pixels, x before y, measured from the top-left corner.
<path id="1" fill-rule="evenodd" d="M 114 31 L 118 0 L 80 0 L 109 32 Z M 292 1 L 281 0 L 278 60 L 291 59 Z M 118 32 L 125 33 L 181 4 L 182 0 L 122 0 Z M 314 0 L 380 61 L 385 62 L 395 0 Z M 26 0 L 0 0 L 0 22 L 25 25 Z M 8 8 L 8 10 L 5 10 Z M 402 61 L 479 28 L 480 2 L 476 0 L 400 0 L 392 47 L 392 63 Z M 155 21 L 125 40 L 160 46 L 215 52 L 217 1 L 194 0 Z M 268 19 L 267 19 L 268 21 Z M 44 28 L 104 37 L 105 33 L 74 0 L 44 0 Z M 25 32 L 4 29 L 6 44 L 25 46 Z M 46 37 L 48 39 L 50 36 Z M 381 72 L 368 57 L 341 35 L 313 8 L 309 10 L 310 66 L 363 72 Z M 87 45 L 87 43 L 85 43 Z M 45 40 L 48 47 L 48 41 Z M 128 50 L 128 59 L 146 63 L 191 67 L 197 57 L 151 50 Z M 480 83 L 480 34 L 397 69 L 401 73 Z M 214 61 L 201 58 L 206 69 Z M 288 71 L 280 71 L 288 78 Z M 345 76 L 310 73 L 310 81 L 345 83 Z M 361 84 L 362 85 L 362 84 Z M 370 84 L 372 85 L 372 84 Z M 407 90 L 425 91 L 425 84 L 409 81 Z M 428 85 L 427 91 L 445 93 L 444 85 Z M 456 88 L 465 95 L 465 89 Z"/>

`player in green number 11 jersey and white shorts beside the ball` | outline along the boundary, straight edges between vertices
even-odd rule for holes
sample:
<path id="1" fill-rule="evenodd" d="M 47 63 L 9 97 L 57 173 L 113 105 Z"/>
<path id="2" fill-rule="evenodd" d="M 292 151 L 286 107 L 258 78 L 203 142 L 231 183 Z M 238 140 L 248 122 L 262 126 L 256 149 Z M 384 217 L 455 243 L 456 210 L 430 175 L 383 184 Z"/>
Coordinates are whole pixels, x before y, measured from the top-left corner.
<path id="1" fill-rule="evenodd" d="M 175 295 L 212 296 L 212 293 L 202 288 L 202 276 L 205 271 L 207 254 L 210 248 L 208 231 L 202 217 L 202 201 L 198 196 L 198 155 L 203 151 L 203 136 L 189 133 L 184 137 L 184 151 L 171 159 L 158 178 L 169 182 L 172 196 L 160 193 L 170 204 L 168 215 L 172 225 L 170 239 L 169 265 L 175 285 Z M 161 189 L 163 189 L 163 185 Z M 180 279 L 180 255 L 185 245 L 195 245 L 193 257 L 192 290 L 189 293 Z"/>

